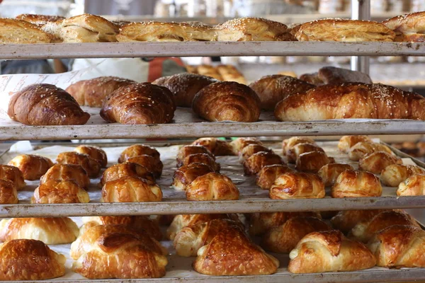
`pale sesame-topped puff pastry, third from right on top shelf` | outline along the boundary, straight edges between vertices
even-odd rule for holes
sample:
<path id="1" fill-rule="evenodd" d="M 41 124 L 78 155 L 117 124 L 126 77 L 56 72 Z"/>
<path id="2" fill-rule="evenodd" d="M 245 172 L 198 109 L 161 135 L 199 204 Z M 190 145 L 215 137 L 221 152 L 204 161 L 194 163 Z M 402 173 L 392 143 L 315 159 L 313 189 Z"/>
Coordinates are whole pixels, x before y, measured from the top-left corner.
<path id="1" fill-rule="evenodd" d="M 283 23 L 265 18 L 234 18 L 216 26 L 218 41 L 292 41 Z"/>

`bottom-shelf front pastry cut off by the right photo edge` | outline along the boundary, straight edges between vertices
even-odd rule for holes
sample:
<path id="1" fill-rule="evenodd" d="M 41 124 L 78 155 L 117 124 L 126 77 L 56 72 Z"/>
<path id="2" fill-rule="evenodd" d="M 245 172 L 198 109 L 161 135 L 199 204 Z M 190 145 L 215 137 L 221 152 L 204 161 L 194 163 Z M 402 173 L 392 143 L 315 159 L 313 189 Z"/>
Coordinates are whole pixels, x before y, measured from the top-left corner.
<path id="1" fill-rule="evenodd" d="M 425 231 L 420 228 L 387 227 L 373 236 L 368 248 L 375 255 L 378 266 L 425 267 Z"/>

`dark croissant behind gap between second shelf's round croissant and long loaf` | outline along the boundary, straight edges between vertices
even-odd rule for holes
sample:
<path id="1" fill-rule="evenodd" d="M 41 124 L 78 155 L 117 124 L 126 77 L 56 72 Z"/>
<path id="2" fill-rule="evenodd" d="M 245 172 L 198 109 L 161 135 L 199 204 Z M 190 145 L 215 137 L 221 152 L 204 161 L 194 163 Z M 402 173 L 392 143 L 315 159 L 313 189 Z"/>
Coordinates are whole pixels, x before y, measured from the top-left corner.
<path id="1" fill-rule="evenodd" d="M 293 93 L 308 91 L 314 85 L 292 76 L 271 75 L 263 76 L 249 85 L 261 100 L 261 109 L 274 110 L 280 100 Z"/>

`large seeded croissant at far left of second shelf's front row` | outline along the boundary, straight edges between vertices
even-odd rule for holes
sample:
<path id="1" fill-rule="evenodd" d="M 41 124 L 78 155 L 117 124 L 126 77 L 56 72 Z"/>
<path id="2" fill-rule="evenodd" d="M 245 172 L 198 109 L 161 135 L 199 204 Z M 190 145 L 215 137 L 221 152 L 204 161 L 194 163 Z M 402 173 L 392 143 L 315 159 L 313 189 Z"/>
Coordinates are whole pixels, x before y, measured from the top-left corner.
<path id="1" fill-rule="evenodd" d="M 62 88 L 35 83 L 15 93 L 7 114 L 25 125 L 84 125 L 90 115 Z"/>

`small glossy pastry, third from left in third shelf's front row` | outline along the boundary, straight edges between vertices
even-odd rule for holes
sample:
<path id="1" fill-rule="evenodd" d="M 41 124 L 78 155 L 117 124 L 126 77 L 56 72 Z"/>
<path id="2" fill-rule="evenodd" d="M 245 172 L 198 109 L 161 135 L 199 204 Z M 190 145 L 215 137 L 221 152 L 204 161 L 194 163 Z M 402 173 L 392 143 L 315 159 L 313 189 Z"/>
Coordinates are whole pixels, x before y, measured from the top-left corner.
<path id="1" fill-rule="evenodd" d="M 140 177 L 125 177 L 106 182 L 101 202 L 161 202 L 161 188 Z"/>

